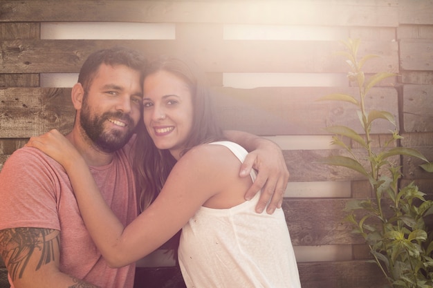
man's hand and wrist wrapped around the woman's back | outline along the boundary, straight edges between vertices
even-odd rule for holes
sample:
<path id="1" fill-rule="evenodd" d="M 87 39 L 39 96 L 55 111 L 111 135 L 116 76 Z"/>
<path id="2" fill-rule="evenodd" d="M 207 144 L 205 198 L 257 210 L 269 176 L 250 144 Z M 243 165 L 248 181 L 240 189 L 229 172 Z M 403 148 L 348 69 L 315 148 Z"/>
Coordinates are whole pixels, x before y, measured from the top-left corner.
<path id="1" fill-rule="evenodd" d="M 258 171 L 257 178 L 246 192 L 245 198 L 251 199 L 262 189 L 256 211 L 264 211 L 270 200 L 266 211 L 272 214 L 276 208 L 282 206 L 289 176 L 281 148 L 270 140 L 246 132 L 224 131 L 224 135 L 250 152 L 241 166 L 239 175 L 245 177 L 251 169 Z"/>

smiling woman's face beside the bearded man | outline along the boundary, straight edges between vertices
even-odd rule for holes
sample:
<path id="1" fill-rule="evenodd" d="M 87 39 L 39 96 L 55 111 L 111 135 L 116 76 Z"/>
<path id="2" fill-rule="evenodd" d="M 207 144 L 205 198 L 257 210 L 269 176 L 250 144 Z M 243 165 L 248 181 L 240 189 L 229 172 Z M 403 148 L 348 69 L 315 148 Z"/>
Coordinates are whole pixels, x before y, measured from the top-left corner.
<path id="1" fill-rule="evenodd" d="M 178 160 L 192 129 L 192 96 L 185 81 L 160 70 L 145 78 L 143 119 L 159 149 L 168 149 Z"/>

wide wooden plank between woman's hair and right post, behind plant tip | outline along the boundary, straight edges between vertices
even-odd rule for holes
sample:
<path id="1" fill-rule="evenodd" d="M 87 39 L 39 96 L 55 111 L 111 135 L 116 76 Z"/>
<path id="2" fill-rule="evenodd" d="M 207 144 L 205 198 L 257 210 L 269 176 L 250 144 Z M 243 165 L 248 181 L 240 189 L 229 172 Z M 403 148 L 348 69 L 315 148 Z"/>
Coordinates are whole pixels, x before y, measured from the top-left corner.
<path id="1" fill-rule="evenodd" d="M 325 135 L 326 126 L 344 125 L 358 133 L 362 128 L 355 106 L 316 99 L 331 93 L 349 93 L 356 88 L 214 88 L 214 106 L 223 128 L 258 135 Z M 374 88 L 366 99 L 367 110 L 389 111 L 398 122 L 397 93 L 394 88 Z M 389 133 L 394 126 L 378 120 L 372 133 Z"/>

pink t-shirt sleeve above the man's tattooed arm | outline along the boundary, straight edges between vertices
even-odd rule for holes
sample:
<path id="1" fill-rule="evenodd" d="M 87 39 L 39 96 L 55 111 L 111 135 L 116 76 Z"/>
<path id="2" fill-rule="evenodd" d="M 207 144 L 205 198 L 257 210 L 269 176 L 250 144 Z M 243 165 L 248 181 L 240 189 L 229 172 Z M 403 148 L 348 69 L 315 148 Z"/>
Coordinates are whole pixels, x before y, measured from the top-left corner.
<path id="1" fill-rule="evenodd" d="M 0 229 L 60 229 L 57 203 L 62 166 L 35 148 L 13 153 L 0 173 Z"/>

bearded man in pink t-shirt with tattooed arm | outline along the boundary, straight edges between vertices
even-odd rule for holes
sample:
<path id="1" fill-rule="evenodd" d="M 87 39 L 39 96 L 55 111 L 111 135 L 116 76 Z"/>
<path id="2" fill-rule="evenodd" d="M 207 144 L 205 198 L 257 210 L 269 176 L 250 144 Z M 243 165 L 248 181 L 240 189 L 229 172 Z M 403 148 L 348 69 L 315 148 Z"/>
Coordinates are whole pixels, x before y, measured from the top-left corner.
<path id="1" fill-rule="evenodd" d="M 66 135 L 125 226 L 138 215 L 130 152 L 140 121 L 144 65 L 142 55 L 125 48 L 90 55 L 72 89 L 77 114 Z M 288 180 L 281 151 L 248 133 L 230 132 L 228 137 L 246 148 L 264 146 L 268 151 L 264 156 L 252 155 L 242 170 L 248 175 L 254 164 L 262 173 L 247 198 L 267 185 L 258 210 L 277 191 L 272 212 L 281 203 Z M 255 142 L 259 145 L 250 147 Z M 268 178 L 265 162 L 275 155 L 282 177 Z M 133 287 L 135 265 L 108 267 L 84 227 L 68 175 L 53 159 L 35 148 L 16 151 L 0 173 L 0 197 L 0 253 L 12 287 Z"/>

